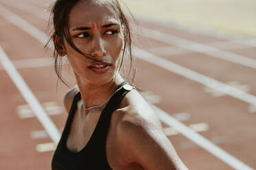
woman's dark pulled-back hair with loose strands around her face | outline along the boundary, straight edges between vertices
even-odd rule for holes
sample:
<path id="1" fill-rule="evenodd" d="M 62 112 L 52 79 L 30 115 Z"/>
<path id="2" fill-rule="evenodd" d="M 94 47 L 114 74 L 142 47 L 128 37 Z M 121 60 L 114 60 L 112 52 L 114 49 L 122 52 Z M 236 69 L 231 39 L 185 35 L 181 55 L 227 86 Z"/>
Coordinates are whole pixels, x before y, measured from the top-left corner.
<path id="1" fill-rule="evenodd" d="M 81 53 L 83 56 L 85 56 L 91 60 L 96 60 L 95 58 L 92 58 L 89 55 L 86 55 L 85 53 L 80 51 L 76 47 L 76 45 L 74 45 L 74 43 L 72 42 L 72 39 L 70 38 L 70 33 L 69 33 L 69 29 L 68 29 L 69 14 L 70 14 L 70 11 L 72 10 L 72 8 L 74 7 L 74 5 L 76 5 L 76 3 L 78 3 L 78 1 L 81 1 L 81 0 L 72 0 L 72 1 L 71 0 L 56 0 L 54 2 L 54 4 L 52 5 L 50 19 L 48 21 L 49 25 L 52 25 L 52 23 L 53 23 L 54 31 L 52 32 L 52 36 L 50 37 L 47 44 L 45 45 L 45 47 L 47 47 L 49 45 L 50 41 L 54 39 L 54 36 L 58 36 L 57 39 L 55 38 L 57 40 L 57 42 L 54 42 L 54 45 L 55 45 L 54 52 L 53 52 L 54 69 L 55 69 L 56 75 L 58 76 L 58 80 L 61 80 L 61 82 L 63 82 L 66 86 L 69 86 L 69 87 L 70 87 L 70 84 L 68 84 L 68 82 L 66 82 L 65 79 L 63 77 L 61 77 L 62 58 L 58 53 L 63 48 L 64 38 L 67 41 L 67 43 L 73 49 L 75 49 L 78 53 Z M 125 3 L 123 3 L 123 4 L 125 5 Z M 120 19 L 120 23 L 123 28 L 123 35 L 124 35 L 124 46 L 123 47 L 124 48 L 122 51 L 122 60 L 121 60 L 120 65 L 122 66 L 123 58 L 124 58 L 125 54 L 127 53 L 130 58 L 130 68 L 129 68 L 129 73 L 128 73 L 127 77 L 124 76 L 124 78 L 125 78 L 125 80 L 128 79 L 128 77 L 131 73 L 131 69 L 132 69 L 133 74 L 132 74 L 131 84 L 133 84 L 135 73 L 136 73 L 136 65 L 134 62 L 134 56 L 131 53 L 131 28 L 129 26 L 127 17 L 125 16 L 124 12 L 122 11 L 121 5 L 118 2 L 118 0 L 108 0 L 108 5 L 110 5 L 111 8 L 114 9 L 114 12 L 116 12 L 116 15 Z M 128 8 L 127 8 L 127 10 L 129 11 Z M 129 13 L 131 14 L 130 11 L 129 11 Z M 131 14 L 131 16 L 132 16 L 132 14 Z M 131 18 L 134 19 L 133 16 Z M 121 68 L 121 66 L 120 66 L 120 68 Z M 120 68 L 118 70 L 118 73 L 120 71 Z M 57 84 L 58 84 L 58 80 L 57 80 Z"/>

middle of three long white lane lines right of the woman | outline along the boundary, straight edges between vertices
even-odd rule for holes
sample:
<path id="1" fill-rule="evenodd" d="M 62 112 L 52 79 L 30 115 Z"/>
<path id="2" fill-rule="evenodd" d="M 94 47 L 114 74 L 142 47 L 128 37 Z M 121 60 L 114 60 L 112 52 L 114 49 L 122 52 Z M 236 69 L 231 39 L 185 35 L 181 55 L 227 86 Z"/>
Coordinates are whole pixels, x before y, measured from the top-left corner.
<path id="1" fill-rule="evenodd" d="M 163 69 L 166 69 L 178 75 L 182 75 L 183 77 L 186 77 L 189 80 L 193 80 L 195 82 L 203 84 L 204 86 L 209 86 L 210 88 L 218 90 L 221 93 L 225 93 L 227 95 L 231 95 L 232 97 L 235 97 L 236 99 L 245 101 L 248 104 L 256 105 L 256 97 L 254 95 L 250 95 L 244 92 L 243 90 L 239 90 L 232 86 L 228 86 L 227 84 L 214 80 L 211 77 L 207 77 L 206 75 L 202 75 L 200 73 L 192 71 L 191 69 L 187 69 L 184 66 L 180 66 L 173 62 L 170 62 L 169 60 L 160 58 L 142 49 L 134 49 L 134 54 L 138 58 L 145 60 L 146 62 L 150 62 L 151 64 L 160 66 Z"/>

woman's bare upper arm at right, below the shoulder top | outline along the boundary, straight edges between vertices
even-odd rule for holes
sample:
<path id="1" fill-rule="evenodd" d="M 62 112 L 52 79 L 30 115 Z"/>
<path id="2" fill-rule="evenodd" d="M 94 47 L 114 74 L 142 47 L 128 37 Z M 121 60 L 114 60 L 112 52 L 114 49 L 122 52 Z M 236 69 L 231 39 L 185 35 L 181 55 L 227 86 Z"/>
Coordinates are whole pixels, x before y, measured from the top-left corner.
<path id="1" fill-rule="evenodd" d="M 121 148 L 129 163 L 138 163 L 147 170 L 186 169 L 162 130 L 142 117 L 121 121 Z"/>

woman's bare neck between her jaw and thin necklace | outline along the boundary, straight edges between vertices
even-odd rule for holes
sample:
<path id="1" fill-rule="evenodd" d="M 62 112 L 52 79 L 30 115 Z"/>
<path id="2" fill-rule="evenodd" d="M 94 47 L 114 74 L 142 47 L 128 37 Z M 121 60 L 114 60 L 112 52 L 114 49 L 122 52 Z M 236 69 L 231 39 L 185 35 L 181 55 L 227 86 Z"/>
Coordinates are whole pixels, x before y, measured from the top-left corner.
<path id="1" fill-rule="evenodd" d="M 114 93 L 118 85 L 124 81 L 119 74 L 116 75 L 116 79 L 106 84 L 90 84 L 79 78 L 76 80 L 85 108 L 103 104 Z"/>

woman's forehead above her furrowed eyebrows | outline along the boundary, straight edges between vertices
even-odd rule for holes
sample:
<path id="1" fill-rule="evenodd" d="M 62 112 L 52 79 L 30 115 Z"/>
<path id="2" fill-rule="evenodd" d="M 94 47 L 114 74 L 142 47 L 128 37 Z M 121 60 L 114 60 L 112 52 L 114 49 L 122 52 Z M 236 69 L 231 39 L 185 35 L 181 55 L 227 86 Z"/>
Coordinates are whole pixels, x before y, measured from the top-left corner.
<path id="1" fill-rule="evenodd" d="M 118 22 L 118 17 L 111 5 L 104 0 L 81 0 L 70 11 L 70 27 L 109 22 Z"/>

